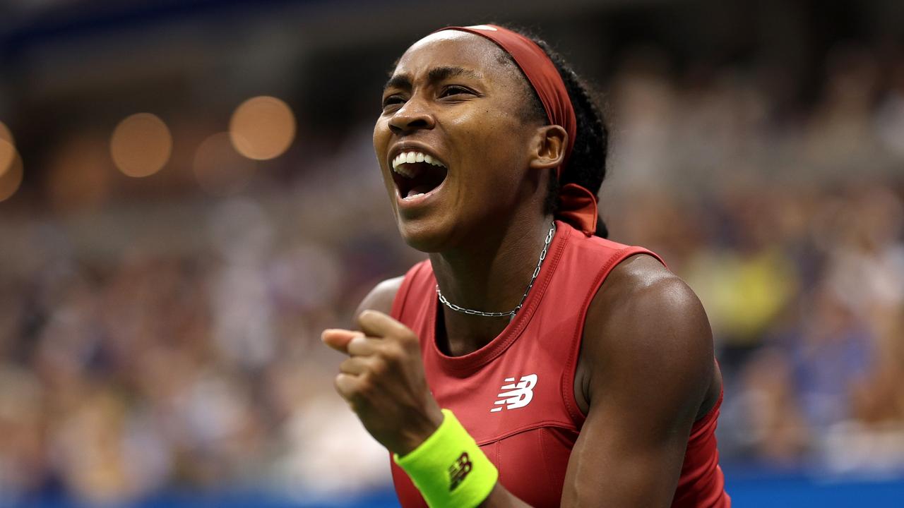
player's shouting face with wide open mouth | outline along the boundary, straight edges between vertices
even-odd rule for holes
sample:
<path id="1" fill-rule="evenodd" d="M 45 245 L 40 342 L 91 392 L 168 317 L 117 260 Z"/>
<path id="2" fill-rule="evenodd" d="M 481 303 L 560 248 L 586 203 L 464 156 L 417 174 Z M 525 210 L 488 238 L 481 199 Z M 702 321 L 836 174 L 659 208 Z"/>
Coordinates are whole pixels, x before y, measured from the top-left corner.
<path id="1" fill-rule="evenodd" d="M 383 90 L 373 147 L 402 238 L 416 249 L 448 249 L 507 221 L 532 192 L 541 124 L 525 122 L 526 82 L 502 54 L 472 33 L 434 33 L 402 55 Z"/>

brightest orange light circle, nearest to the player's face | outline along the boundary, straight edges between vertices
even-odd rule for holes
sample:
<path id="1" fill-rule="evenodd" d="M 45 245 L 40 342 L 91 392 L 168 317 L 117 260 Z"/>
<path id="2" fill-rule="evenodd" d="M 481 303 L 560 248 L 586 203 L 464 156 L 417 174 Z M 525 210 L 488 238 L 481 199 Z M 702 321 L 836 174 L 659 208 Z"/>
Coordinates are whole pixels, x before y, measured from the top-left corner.
<path id="1" fill-rule="evenodd" d="M 232 113 L 232 145 L 250 159 L 268 160 L 286 152 L 295 139 L 292 108 L 275 97 L 260 96 L 242 102 Z"/>

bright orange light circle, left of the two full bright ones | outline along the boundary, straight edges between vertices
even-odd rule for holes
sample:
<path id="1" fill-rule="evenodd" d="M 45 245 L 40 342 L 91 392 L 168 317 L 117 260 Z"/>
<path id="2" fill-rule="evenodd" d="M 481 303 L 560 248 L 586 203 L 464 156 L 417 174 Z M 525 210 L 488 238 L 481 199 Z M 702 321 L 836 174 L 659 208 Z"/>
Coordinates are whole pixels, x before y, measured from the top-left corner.
<path id="1" fill-rule="evenodd" d="M 137 113 L 119 122 L 110 137 L 110 155 L 128 176 L 150 176 L 160 171 L 173 152 L 173 136 L 156 115 Z"/>

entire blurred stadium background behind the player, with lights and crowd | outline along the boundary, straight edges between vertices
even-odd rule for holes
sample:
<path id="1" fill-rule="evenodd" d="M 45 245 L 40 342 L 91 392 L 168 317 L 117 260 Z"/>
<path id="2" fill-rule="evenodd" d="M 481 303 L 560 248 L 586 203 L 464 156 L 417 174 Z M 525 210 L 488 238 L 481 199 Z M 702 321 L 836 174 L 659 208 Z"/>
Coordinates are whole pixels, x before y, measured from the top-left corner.
<path id="1" fill-rule="evenodd" d="M 0 506 L 393 506 L 319 341 L 401 242 L 392 62 L 532 29 L 701 296 L 738 506 L 904 498 L 904 3 L 3 0 Z"/>

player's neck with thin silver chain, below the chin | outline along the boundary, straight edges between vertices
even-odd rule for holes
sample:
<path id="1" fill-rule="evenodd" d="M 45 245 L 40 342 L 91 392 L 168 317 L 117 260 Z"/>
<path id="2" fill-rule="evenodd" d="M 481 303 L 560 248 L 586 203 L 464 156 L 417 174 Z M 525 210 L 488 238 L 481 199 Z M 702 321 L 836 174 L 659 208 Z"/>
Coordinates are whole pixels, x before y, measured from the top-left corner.
<path id="1" fill-rule="evenodd" d="M 551 216 L 510 221 L 503 230 L 481 230 L 460 249 L 430 254 L 443 296 L 457 306 L 484 312 L 508 312 L 521 303 L 533 278 Z M 509 316 L 466 315 L 439 306 L 438 343 L 452 355 L 489 343 L 508 325 Z"/>

